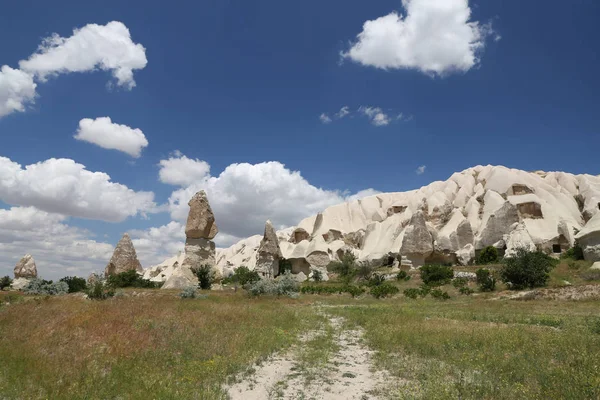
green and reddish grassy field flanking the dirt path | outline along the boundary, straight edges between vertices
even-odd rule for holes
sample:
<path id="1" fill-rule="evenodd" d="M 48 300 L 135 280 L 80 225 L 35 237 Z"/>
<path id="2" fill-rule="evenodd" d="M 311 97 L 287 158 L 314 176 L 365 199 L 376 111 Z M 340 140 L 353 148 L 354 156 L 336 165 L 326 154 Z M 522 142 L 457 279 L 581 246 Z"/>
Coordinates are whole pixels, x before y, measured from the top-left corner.
<path id="1" fill-rule="evenodd" d="M 589 284 L 561 266 L 551 285 Z M 417 287 L 415 276 L 398 283 Z M 600 300 L 510 300 L 499 293 L 447 301 L 402 294 L 250 298 L 242 291 L 182 300 L 126 290 L 106 301 L 0 292 L 0 398 L 222 399 L 253 363 L 320 329 L 324 314 L 360 326 L 389 371 L 391 398 L 600 398 Z M 10 304 L 7 304 L 10 303 Z M 335 351 L 328 329 L 305 342 L 307 369 Z"/>

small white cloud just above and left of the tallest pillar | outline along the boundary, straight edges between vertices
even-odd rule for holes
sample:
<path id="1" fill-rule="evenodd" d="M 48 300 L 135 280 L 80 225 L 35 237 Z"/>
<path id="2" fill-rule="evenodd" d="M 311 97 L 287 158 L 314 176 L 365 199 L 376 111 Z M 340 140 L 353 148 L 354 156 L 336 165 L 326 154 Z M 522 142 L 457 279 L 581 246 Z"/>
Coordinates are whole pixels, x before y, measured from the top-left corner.
<path id="1" fill-rule="evenodd" d="M 187 158 L 180 151 L 175 151 L 168 160 L 160 160 L 158 165 L 160 181 L 169 185 L 189 186 L 210 174 L 206 161 Z"/>

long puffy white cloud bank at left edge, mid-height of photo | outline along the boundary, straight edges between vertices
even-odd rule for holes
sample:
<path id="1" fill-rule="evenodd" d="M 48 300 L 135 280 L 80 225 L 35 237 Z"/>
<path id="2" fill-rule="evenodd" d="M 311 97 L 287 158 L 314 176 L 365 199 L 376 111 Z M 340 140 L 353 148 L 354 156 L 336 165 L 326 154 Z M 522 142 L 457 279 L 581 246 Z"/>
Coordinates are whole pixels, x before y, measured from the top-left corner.
<path id="1" fill-rule="evenodd" d="M 111 182 L 70 159 L 51 158 L 22 168 L 0 157 L 0 200 L 11 205 L 74 217 L 120 222 L 156 211 L 152 192 L 136 192 Z"/>

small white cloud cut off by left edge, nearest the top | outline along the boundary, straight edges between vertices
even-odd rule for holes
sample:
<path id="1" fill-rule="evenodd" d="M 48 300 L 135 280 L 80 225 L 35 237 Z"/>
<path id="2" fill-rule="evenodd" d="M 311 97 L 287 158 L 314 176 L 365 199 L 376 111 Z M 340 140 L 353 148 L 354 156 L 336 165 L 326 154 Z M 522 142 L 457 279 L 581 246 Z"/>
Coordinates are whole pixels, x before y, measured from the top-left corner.
<path id="1" fill-rule="evenodd" d="M 36 86 L 28 73 L 3 65 L 0 69 L 0 118 L 25 111 L 25 106 L 35 100 Z"/>

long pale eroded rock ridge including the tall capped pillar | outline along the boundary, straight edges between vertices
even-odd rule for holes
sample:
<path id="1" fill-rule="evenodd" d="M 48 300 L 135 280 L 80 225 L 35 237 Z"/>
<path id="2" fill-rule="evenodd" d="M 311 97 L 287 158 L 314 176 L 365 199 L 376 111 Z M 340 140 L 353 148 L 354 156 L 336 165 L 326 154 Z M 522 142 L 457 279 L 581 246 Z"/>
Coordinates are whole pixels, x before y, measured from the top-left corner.
<path id="1" fill-rule="evenodd" d="M 575 240 L 586 259 L 600 261 L 600 177 L 593 175 L 477 166 L 418 190 L 329 207 L 277 232 L 267 221 L 264 235 L 216 251 L 210 240 L 218 230 L 206 194 L 189 204 L 186 253 L 145 270 L 145 278 L 170 287 L 173 274 L 185 276 L 187 282 L 173 285 L 181 287 L 195 279 L 182 266 L 207 262 L 222 276 L 246 266 L 270 277 L 282 257 L 294 274 L 320 270 L 327 277 L 327 264 L 345 252 L 412 267 L 466 265 L 486 246 L 507 255 L 520 247 L 560 253 Z"/>

